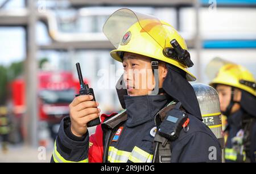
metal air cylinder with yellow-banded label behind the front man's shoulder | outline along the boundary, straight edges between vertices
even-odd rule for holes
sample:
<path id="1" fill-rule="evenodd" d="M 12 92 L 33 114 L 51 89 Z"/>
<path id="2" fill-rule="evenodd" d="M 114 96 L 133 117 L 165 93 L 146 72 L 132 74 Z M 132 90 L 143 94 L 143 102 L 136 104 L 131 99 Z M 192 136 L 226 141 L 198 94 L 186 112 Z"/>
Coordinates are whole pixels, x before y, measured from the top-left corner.
<path id="1" fill-rule="evenodd" d="M 222 135 L 222 122 L 220 100 L 217 91 L 203 83 L 192 84 L 199 102 L 203 122 L 207 125 L 221 143 L 222 155 L 224 154 L 224 137 Z M 224 156 L 222 156 L 224 160 Z"/>

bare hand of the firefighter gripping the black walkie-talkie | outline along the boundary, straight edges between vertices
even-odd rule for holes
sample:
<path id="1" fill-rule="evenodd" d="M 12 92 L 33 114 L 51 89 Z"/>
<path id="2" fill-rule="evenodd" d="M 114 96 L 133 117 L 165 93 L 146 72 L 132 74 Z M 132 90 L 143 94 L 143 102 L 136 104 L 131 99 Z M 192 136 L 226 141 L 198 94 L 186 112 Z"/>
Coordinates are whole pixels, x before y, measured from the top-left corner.
<path id="1" fill-rule="evenodd" d="M 71 104 L 69 104 L 69 111 L 71 117 L 71 131 L 77 137 L 82 137 L 87 131 L 87 123 L 100 117 L 100 109 L 92 95 L 80 95 L 75 97 Z"/>

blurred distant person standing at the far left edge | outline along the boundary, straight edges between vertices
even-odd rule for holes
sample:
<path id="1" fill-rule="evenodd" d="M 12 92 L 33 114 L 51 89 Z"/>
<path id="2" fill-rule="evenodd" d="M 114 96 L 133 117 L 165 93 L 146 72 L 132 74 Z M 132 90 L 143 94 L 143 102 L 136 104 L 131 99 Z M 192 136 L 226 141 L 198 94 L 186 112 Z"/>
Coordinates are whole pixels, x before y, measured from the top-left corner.
<path id="1" fill-rule="evenodd" d="M 8 135 L 10 133 L 9 119 L 7 117 L 7 108 L 0 107 L 0 135 L 2 139 L 2 151 L 7 152 Z"/>

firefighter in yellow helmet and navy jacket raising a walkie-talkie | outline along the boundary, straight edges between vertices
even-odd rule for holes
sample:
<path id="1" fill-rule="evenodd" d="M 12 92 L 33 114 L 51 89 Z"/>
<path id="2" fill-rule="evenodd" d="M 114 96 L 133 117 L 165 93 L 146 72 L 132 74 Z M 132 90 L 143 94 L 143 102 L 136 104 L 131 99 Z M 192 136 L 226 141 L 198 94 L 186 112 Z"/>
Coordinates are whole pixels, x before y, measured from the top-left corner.
<path id="1" fill-rule="evenodd" d="M 116 86 L 123 111 L 100 116 L 93 96 L 76 97 L 51 162 L 221 162 L 220 143 L 202 122 L 188 82 L 196 78 L 179 33 L 129 9 L 114 12 L 103 31 L 116 48 L 110 55 L 123 64 Z M 99 116 L 89 136 L 86 123 Z"/>

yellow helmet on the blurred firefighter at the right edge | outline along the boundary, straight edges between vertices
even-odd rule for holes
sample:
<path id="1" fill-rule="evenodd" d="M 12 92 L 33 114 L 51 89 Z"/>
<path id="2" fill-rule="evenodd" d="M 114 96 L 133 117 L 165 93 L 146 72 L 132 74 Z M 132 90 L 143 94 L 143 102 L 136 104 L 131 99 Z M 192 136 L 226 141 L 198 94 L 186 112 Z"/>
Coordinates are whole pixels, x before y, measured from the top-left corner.
<path id="1" fill-rule="evenodd" d="M 227 63 L 222 66 L 216 77 L 210 82 L 210 86 L 214 86 L 214 84 L 233 86 L 256 96 L 256 82 L 253 74 L 241 65 Z"/>

